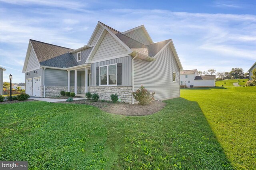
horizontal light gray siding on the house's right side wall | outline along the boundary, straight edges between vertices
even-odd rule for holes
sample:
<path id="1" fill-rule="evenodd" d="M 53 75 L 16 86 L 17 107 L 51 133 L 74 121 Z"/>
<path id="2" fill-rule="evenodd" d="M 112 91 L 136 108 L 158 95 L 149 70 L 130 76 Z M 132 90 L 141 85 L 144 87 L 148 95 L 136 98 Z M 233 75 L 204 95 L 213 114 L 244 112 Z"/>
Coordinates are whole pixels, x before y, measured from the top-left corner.
<path id="1" fill-rule="evenodd" d="M 172 81 L 172 73 L 176 81 Z M 143 85 L 150 92 L 156 92 L 155 99 L 169 99 L 180 96 L 180 68 L 170 45 L 157 57 L 156 61 L 134 59 L 134 91 Z"/>

